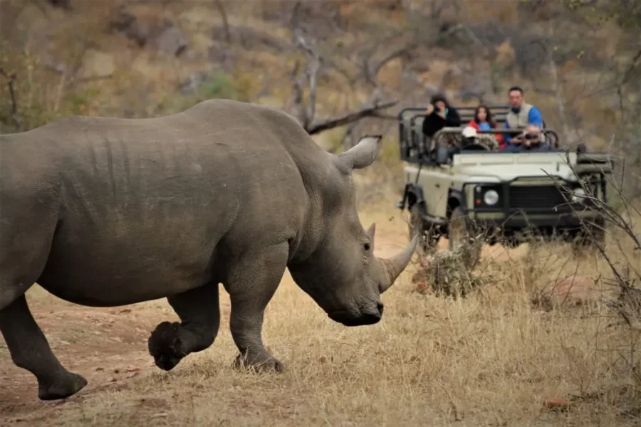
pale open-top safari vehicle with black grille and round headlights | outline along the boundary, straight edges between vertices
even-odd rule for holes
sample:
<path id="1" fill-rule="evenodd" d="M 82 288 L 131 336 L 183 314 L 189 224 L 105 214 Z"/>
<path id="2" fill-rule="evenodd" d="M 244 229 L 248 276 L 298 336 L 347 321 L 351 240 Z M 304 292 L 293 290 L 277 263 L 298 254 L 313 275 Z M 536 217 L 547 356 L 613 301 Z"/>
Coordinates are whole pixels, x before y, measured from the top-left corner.
<path id="1" fill-rule="evenodd" d="M 607 203 L 606 175 L 613 168 L 608 154 L 588 154 L 583 144 L 564 149 L 557 132 L 545 128 L 552 152 L 500 152 L 498 145 L 493 151 L 482 143 L 462 147 L 462 130 L 474 117 L 474 107 L 455 108 L 462 127 L 445 127 L 432 139 L 422 133 L 424 107 L 405 108 L 398 115 L 406 184 L 397 207 L 410 211 L 410 236 L 421 235 L 419 252 L 434 251 L 441 236 L 448 238 L 450 249 L 479 240 L 517 246 L 532 233 L 580 244 L 603 239 L 605 221 L 598 205 Z M 490 108 L 504 122 L 509 107 Z M 521 132 L 477 135 L 482 142 L 488 138 L 482 134 L 514 137 Z M 480 251 L 482 245 L 475 246 Z"/>

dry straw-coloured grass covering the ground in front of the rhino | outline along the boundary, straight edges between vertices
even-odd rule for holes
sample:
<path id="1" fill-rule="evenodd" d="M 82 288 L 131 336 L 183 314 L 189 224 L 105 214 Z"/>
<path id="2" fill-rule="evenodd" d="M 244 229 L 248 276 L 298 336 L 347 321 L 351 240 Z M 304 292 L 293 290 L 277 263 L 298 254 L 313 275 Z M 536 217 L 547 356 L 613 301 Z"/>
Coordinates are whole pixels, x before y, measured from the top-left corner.
<path id="1" fill-rule="evenodd" d="M 364 226 L 377 222 L 376 250 L 384 255 L 407 240 L 404 218 L 391 207 L 396 195 L 386 195 L 361 211 Z M 612 255 L 622 259 L 614 248 Z M 627 262 L 639 265 L 638 258 Z M 222 291 L 222 328 L 207 351 L 169 373 L 147 357 L 145 369 L 120 384 L 95 384 L 93 372 L 83 371 L 90 387 L 80 395 L 42 404 L 33 390 L 28 412 L 14 411 L 11 420 L 68 426 L 638 423 L 638 381 L 629 364 L 637 358 L 631 354 L 635 335 L 607 327 L 612 319 L 600 302 L 577 305 L 551 291 L 577 269 L 587 278 L 607 277 L 595 254 L 576 258 L 563 245 L 486 248 L 480 269 L 491 283 L 452 300 L 420 295 L 408 268 L 383 297 L 384 320 L 357 328 L 330 321 L 286 275 L 264 325 L 266 345 L 286 364 L 283 374 L 231 369 L 236 347 Z M 548 303 L 533 303 L 548 291 Z M 36 318 L 43 298 L 48 305 L 78 307 L 31 292 Z M 142 316 L 162 318 L 165 311 L 175 317 L 165 302 L 131 308 L 144 310 Z M 114 319 L 130 325 L 122 315 Z M 81 347 L 92 342 L 89 332 L 76 339 Z M 145 344 L 135 345 L 145 351 Z M 3 366 L 11 363 L 6 353 L 0 359 Z M 98 358 L 95 367 L 101 364 L 108 361 Z M 33 386 L 31 376 L 24 380 L 24 388 Z M 550 398 L 568 399 L 569 408 L 551 411 L 544 406 Z"/>

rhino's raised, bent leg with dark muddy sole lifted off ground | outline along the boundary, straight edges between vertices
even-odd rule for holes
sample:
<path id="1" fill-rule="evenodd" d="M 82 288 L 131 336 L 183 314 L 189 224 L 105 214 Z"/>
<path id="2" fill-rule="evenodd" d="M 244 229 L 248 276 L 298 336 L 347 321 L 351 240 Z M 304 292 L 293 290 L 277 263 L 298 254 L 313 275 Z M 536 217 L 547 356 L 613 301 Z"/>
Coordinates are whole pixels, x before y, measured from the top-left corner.
<path id="1" fill-rule="evenodd" d="M 173 369 L 189 353 L 214 343 L 220 325 L 218 283 L 168 297 L 181 322 L 162 322 L 149 338 L 149 352 L 156 366 Z"/>

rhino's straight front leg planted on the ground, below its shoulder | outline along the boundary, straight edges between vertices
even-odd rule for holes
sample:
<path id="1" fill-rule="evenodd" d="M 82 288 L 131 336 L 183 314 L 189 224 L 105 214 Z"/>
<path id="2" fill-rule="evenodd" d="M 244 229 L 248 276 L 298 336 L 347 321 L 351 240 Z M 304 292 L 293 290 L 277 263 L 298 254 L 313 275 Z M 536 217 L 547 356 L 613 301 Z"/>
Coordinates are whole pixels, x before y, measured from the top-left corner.
<path id="1" fill-rule="evenodd" d="M 262 339 L 263 315 L 283 278 L 289 246 L 282 243 L 244 257 L 232 270 L 228 291 L 231 297 L 229 326 L 240 354 L 236 367 L 258 371 L 283 371 L 284 366 L 265 349 Z"/>

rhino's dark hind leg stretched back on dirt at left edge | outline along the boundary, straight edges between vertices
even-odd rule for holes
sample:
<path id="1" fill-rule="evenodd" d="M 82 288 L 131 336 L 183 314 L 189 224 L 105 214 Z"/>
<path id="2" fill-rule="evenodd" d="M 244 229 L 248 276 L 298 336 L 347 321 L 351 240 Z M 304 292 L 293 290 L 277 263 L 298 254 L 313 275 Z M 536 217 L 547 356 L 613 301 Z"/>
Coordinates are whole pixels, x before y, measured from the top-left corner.
<path id="1" fill-rule="evenodd" d="M 0 332 L 16 366 L 30 371 L 38 379 L 41 400 L 63 399 L 87 385 L 86 379 L 58 362 L 33 319 L 24 295 L 0 311 Z"/>

